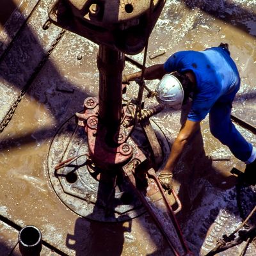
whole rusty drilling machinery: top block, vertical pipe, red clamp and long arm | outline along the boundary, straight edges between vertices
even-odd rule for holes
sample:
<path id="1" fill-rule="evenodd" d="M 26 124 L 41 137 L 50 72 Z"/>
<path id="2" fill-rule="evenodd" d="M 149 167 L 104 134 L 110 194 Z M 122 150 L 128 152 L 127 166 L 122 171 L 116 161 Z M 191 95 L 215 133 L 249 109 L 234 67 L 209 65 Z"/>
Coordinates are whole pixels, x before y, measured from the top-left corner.
<path id="1" fill-rule="evenodd" d="M 76 116 L 77 124 L 84 127 L 87 136 L 88 157 L 93 166 L 100 169 L 99 180 L 111 176 L 109 180 L 113 189 L 106 192 L 109 193 L 108 200 L 115 194 L 116 177 L 122 172 L 163 232 L 173 254 L 188 255 L 190 252 L 175 212 L 154 171 L 154 166 L 163 158 L 149 117 L 161 111 L 163 106 L 156 106 L 143 114 L 141 111 L 137 113 L 138 109 L 141 110 L 140 100 L 136 102 L 137 106 L 124 106 L 122 102 L 124 54 L 137 54 L 147 45 L 164 3 L 165 0 L 54 0 L 49 7 L 49 18 L 57 26 L 99 44 L 99 97 L 85 99 L 83 113 Z M 151 159 L 131 138 L 134 125 L 138 123 L 153 152 Z M 67 166 L 74 159 L 77 157 L 58 164 L 55 169 Z M 158 194 L 160 198 L 153 200 Z M 179 210 L 180 205 L 176 211 Z"/>

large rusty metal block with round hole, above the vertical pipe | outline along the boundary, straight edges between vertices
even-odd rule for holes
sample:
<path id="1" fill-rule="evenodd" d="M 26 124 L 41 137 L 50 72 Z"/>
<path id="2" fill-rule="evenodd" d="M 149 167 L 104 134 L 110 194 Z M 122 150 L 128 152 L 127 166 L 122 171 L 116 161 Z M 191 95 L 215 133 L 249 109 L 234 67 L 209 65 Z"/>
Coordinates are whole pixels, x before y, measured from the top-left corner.
<path id="1" fill-rule="evenodd" d="M 49 6 L 49 18 L 57 26 L 96 44 L 126 54 L 137 54 L 147 44 L 165 2 L 53 0 Z"/>

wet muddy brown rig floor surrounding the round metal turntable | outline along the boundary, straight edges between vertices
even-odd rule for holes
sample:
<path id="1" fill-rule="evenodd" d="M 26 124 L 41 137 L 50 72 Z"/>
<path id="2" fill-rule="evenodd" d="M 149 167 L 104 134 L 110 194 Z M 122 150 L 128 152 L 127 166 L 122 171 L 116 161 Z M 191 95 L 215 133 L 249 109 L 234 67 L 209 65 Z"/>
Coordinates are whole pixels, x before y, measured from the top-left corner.
<path id="1" fill-rule="evenodd" d="M 52 186 L 52 141 L 60 127 L 83 109 L 84 99 L 98 95 L 99 46 L 70 31 L 62 34 L 53 24 L 44 30 L 50 2 L 0 1 L 1 122 L 20 92 L 22 95 L 12 120 L 0 134 L 0 255 L 20 255 L 18 232 L 26 225 L 40 228 L 41 255 L 173 255 L 147 211 L 134 210 L 134 218 L 116 223 L 92 221 L 67 207 Z M 201 51 L 227 43 L 241 75 L 232 115 L 252 127 L 236 123 L 243 136 L 256 145 L 255 36 L 254 0 L 167 0 L 149 38 L 146 65 L 163 63 L 175 51 Z M 58 44 L 45 60 L 56 40 Z M 141 64 L 144 54 L 128 57 Z M 154 58 L 154 54 L 158 56 Z M 126 74 L 137 70 L 132 61 L 126 61 Z M 146 84 L 154 90 L 157 81 Z M 138 84 L 132 82 L 124 99 L 137 94 Z M 144 96 L 145 106 L 156 104 L 146 92 Z M 170 146 L 186 111 L 188 108 L 181 112 L 164 109 L 151 118 Z M 168 150 L 164 159 L 166 156 Z M 174 177 L 182 202 L 177 220 L 194 255 L 210 252 L 255 206 L 255 187 L 237 188 L 236 175 L 230 173 L 233 167 L 243 172 L 244 166 L 212 137 L 206 118 Z M 218 255 L 255 254 L 255 242 L 244 242 Z"/>

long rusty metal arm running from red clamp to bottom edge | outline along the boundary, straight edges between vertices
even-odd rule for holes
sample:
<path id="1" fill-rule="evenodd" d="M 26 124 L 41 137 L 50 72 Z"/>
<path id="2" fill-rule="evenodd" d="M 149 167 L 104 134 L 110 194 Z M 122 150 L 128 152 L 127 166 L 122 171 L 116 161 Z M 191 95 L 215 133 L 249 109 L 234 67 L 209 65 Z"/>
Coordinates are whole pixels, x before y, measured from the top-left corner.
<path id="1" fill-rule="evenodd" d="M 132 160 L 124 166 L 124 173 L 164 238 L 168 241 L 174 255 L 191 255 L 175 218 L 175 213 L 164 194 L 155 171 L 150 168 L 150 165 L 147 168 L 148 170 L 145 170 L 146 166 L 143 164 L 145 161 L 147 162 L 145 155 L 140 150 L 136 150 Z M 142 168 L 140 168 L 140 164 L 142 164 Z M 156 193 L 161 193 L 161 198 L 154 202 L 150 198 L 154 197 Z M 180 202 L 178 204 L 180 210 Z"/>

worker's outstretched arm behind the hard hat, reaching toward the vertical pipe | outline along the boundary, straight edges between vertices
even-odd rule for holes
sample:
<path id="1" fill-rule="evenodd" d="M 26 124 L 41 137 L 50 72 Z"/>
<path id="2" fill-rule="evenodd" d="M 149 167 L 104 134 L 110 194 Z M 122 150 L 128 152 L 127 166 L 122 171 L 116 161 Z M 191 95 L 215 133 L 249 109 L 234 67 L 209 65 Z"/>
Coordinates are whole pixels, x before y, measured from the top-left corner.
<path id="1" fill-rule="evenodd" d="M 156 64 L 153 66 L 150 66 L 148 68 L 145 68 L 145 72 L 144 72 L 144 78 L 146 80 L 153 80 L 153 79 L 161 79 L 164 74 L 167 74 L 168 72 L 164 69 L 164 65 L 163 64 Z M 137 78 L 141 77 L 141 71 L 132 73 L 132 74 L 128 74 L 124 76 L 124 82 L 129 82 L 129 81 L 134 81 Z"/>

